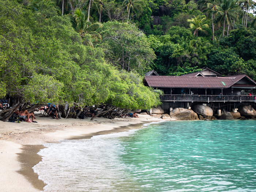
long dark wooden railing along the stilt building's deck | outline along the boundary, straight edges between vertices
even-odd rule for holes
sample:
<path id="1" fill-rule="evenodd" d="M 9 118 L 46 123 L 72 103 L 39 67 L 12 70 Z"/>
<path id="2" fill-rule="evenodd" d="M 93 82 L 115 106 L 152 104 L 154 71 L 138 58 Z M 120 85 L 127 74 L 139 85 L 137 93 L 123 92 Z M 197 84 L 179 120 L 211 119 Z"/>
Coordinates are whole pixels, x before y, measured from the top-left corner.
<path id="1" fill-rule="evenodd" d="M 202 101 L 202 102 L 226 102 L 226 101 L 252 101 L 256 102 L 255 95 L 160 95 L 161 101 Z"/>

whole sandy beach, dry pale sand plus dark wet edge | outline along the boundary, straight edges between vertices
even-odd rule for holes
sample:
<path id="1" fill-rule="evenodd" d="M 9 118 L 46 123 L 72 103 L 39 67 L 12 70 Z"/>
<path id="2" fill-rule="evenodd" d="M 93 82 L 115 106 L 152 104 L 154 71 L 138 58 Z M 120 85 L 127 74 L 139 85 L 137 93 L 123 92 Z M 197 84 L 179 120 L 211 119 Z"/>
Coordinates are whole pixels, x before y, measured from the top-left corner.
<path id="1" fill-rule="evenodd" d="M 150 115 L 140 118 L 52 119 L 39 117 L 38 123 L 0 121 L 0 191 L 38 192 L 44 182 L 32 167 L 41 161 L 38 151 L 47 142 L 63 139 L 84 139 L 93 135 L 123 132 L 140 128 L 144 123 L 163 121 Z"/>

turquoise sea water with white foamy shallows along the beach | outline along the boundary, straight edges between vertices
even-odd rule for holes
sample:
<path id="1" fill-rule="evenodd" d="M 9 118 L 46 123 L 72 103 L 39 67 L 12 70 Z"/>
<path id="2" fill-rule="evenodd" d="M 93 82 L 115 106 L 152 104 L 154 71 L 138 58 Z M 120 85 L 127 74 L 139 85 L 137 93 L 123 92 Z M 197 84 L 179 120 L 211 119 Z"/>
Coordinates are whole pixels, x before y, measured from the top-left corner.
<path id="1" fill-rule="evenodd" d="M 45 191 L 256 191 L 256 121 L 168 121 L 45 144 Z"/>

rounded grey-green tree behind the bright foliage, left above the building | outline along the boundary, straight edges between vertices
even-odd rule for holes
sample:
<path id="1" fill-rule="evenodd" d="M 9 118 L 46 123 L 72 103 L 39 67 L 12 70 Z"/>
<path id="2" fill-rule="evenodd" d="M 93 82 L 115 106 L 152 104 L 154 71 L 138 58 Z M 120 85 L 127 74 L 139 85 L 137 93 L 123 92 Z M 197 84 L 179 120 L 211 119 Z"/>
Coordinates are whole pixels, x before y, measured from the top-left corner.
<path id="1" fill-rule="evenodd" d="M 148 71 L 155 58 L 148 39 L 135 25 L 117 21 L 106 22 L 99 30 L 102 40 L 97 46 L 105 49 L 106 58 L 118 69 Z"/>

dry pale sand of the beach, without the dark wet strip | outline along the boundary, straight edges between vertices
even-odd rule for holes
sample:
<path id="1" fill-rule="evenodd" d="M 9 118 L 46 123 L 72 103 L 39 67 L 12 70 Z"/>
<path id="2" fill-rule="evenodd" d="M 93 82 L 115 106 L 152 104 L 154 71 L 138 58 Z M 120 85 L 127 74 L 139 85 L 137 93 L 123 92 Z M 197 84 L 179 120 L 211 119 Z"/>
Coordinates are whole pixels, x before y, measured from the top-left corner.
<path id="1" fill-rule="evenodd" d="M 39 114 L 38 114 L 39 115 Z M 39 191 L 24 176 L 17 171 L 21 165 L 18 154 L 22 153 L 22 145 L 44 144 L 76 136 L 97 135 L 97 132 L 113 130 L 129 124 L 144 121 L 162 121 L 150 115 L 139 115 L 140 118 L 106 118 L 61 119 L 38 117 L 38 123 L 9 123 L 0 121 L 0 191 L 4 192 L 34 192 Z M 121 130 L 120 130 L 121 129 Z M 119 128 L 114 131 L 126 131 Z M 105 134 L 108 132 L 104 132 Z M 31 159 L 30 159 L 31 160 Z"/>

